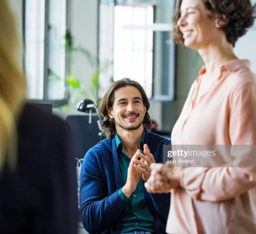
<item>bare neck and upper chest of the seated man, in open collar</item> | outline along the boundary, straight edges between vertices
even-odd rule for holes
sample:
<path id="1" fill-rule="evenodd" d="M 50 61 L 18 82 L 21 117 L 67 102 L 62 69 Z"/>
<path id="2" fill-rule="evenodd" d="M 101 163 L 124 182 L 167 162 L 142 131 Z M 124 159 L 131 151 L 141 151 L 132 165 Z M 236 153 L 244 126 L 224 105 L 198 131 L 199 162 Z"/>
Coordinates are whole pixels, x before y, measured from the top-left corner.
<path id="1" fill-rule="evenodd" d="M 124 152 L 129 157 L 135 154 L 136 150 L 139 149 L 139 143 L 143 136 L 143 126 L 136 130 L 126 130 L 118 131 L 117 134 L 122 141 L 122 145 L 124 146 Z"/>

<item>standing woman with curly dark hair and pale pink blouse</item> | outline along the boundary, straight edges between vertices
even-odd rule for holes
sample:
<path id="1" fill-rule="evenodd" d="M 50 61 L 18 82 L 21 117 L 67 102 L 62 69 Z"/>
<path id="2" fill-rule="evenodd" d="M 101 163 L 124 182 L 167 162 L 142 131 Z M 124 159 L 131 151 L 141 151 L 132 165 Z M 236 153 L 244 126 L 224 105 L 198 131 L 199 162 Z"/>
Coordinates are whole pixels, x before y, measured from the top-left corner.
<path id="1" fill-rule="evenodd" d="M 167 233 L 256 233 L 256 77 L 250 62 L 233 53 L 255 8 L 250 0 L 177 3 L 174 39 L 198 51 L 205 66 L 172 130 L 172 144 L 242 148 L 229 150 L 236 167 L 226 166 L 223 152 L 207 167 L 151 165 L 148 192 L 172 193 Z"/>

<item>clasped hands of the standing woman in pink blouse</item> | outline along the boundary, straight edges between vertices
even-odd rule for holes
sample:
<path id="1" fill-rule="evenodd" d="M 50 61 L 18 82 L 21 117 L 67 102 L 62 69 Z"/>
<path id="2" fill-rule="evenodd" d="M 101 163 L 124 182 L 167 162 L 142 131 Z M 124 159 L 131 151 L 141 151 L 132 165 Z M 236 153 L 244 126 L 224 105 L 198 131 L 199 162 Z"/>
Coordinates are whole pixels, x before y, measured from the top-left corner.
<path id="1" fill-rule="evenodd" d="M 145 183 L 148 193 L 169 193 L 180 186 L 181 169 L 171 165 L 151 164 L 151 177 Z"/>

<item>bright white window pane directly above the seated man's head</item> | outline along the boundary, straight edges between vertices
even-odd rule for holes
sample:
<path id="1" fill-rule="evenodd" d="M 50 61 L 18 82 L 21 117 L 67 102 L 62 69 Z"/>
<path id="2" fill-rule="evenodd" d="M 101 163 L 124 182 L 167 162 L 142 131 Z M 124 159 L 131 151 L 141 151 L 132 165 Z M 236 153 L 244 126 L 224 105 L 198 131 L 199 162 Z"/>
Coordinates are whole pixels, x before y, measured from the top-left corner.
<path id="1" fill-rule="evenodd" d="M 153 31 L 139 26 L 152 25 L 153 18 L 153 6 L 115 6 L 113 78 L 136 80 L 148 98 L 153 87 Z"/>

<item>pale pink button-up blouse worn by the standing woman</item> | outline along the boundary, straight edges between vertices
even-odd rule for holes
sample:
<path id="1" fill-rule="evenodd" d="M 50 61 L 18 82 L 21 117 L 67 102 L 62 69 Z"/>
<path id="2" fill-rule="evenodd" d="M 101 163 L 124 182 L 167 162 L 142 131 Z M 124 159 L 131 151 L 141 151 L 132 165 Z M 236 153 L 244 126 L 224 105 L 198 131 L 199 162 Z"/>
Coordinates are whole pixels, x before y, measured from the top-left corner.
<path id="1" fill-rule="evenodd" d="M 256 77 L 248 60 L 225 63 L 197 98 L 205 67 L 172 130 L 173 145 L 256 145 Z M 250 154 L 243 161 L 250 160 Z M 248 161 L 249 162 L 249 161 Z M 167 233 L 256 233 L 256 167 L 186 167 L 172 190 Z"/>

